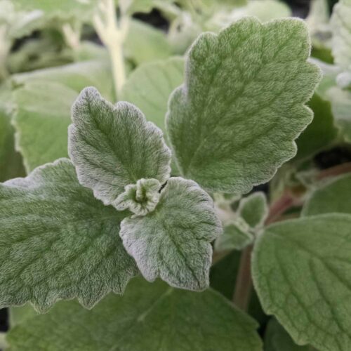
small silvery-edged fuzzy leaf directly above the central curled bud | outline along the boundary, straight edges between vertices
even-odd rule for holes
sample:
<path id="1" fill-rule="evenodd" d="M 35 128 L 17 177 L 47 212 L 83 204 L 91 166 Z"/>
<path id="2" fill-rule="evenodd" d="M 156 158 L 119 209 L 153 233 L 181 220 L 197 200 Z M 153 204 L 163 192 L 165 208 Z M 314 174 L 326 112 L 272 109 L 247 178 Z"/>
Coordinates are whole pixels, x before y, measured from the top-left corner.
<path id="1" fill-rule="evenodd" d="M 162 132 L 128 102 L 112 105 L 95 88 L 85 88 L 72 107 L 69 156 L 79 182 L 104 204 L 113 204 L 126 185 L 141 178 L 164 183 L 171 151 Z"/>

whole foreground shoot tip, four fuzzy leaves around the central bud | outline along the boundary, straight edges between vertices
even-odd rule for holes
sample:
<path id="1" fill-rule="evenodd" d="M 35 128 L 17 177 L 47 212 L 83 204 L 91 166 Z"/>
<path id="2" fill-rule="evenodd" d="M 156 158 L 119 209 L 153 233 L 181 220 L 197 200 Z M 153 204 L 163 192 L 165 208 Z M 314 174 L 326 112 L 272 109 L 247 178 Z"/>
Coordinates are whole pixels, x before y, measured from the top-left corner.
<path id="1" fill-rule="evenodd" d="M 202 34 L 168 106 L 180 173 L 210 192 L 244 193 L 269 180 L 312 120 L 305 102 L 319 71 L 306 62 L 309 53 L 300 20 L 245 18 Z M 114 106 L 87 88 L 73 107 L 69 152 L 75 170 L 60 160 L 0 187 L 1 305 L 30 300 L 43 310 L 77 297 L 91 306 L 123 291 L 137 270 L 118 232 L 147 279 L 208 286 L 221 226 L 197 183 L 169 178 L 171 153 L 157 127 L 133 105 Z M 86 187 L 129 211 L 103 206 Z"/>

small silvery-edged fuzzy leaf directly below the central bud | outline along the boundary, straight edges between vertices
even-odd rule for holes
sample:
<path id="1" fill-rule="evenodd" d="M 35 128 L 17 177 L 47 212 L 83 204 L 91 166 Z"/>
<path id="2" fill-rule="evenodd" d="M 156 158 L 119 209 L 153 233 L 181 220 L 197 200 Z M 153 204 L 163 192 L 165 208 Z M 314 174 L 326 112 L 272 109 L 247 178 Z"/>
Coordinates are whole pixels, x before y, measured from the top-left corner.
<path id="1" fill-rule="evenodd" d="M 211 241 L 220 231 L 211 197 L 192 180 L 170 178 L 155 211 L 125 218 L 119 234 L 147 280 L 161 277 L 171 286 L 202 290 L 208 286 Z"/>

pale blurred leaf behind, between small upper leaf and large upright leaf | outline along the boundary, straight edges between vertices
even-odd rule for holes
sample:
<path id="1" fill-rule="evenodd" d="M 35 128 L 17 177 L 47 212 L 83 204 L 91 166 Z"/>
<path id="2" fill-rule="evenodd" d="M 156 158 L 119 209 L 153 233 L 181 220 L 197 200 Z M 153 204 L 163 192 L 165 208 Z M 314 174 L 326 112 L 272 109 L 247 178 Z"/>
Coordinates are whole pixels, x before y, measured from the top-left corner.
<path id="1" fill-rule="evenodd" d="M 169 95 L 182 84 L 183 79 L 183 58 L 168 58 L 140 65 L 128 77 L 121 92 L 122 100 L 138 106 L 148 121 L 165 131 Z"/>

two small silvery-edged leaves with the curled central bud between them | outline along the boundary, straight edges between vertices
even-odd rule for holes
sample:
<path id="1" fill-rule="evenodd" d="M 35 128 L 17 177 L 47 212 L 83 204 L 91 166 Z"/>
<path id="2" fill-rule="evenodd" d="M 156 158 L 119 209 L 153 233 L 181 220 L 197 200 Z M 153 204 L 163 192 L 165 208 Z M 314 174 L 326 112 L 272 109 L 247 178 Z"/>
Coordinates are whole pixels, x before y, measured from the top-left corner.
<path id="1" fill-rule="evenodd" d="M 143 276 L 190 290 L 208 286 L 211 241 L 221 231 L 211 197 L 171 173 L 162 132 L 128 102 L 86 88 L 72 108 L 69 154 L 81 185 L 132 216 L 119 235 Z"/>

